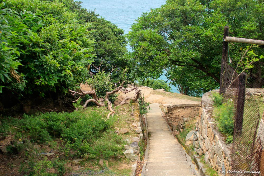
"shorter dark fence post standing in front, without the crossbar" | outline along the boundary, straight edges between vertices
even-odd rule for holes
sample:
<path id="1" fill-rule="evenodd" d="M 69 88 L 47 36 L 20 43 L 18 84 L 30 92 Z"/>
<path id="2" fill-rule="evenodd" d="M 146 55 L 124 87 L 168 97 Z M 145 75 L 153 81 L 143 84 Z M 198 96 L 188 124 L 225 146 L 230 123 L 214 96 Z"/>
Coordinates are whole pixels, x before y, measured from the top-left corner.
<path id="1" fill-rule="evenodd" d="M 241 73 L 238 77 L 238 98 L 237 98 L 237 112 L 235 114 L 235 136 L 240 136 L 243 125 L 245 92 L 246 92 L 246 73 Z"/>

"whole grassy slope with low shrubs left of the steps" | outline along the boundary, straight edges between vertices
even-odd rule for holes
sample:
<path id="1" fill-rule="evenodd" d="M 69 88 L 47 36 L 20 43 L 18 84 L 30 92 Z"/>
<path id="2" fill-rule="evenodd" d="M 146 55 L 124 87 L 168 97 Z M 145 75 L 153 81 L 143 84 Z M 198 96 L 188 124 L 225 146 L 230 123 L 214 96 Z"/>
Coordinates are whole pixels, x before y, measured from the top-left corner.
<path id="1" fill-rule="evenodd" d="M 135 111 L 138 106 L 133 104 Z M 131 129 L 138 117 L 131 116 L 129 105 L 107 119 L 109 111 L 105 107 L 89 107 L 72 113 L 45 113 L 36 116 L 24 115 L 17 118 L 2 118 L 0 137 L 12 138 L 15 148 L 9 143 L 9 154 L 16 153 L 27 160 L 19 169 L 24 175 L 64 175 L 72 171 L 72 160 L 82 158 L 80 172 L 98 175 L 130 175 L 131 162 L 119 159 L 123 155 L 126 139 L 133 141 L 138 134 Z M 129 110 L 129 112 L 126 112 Z M 2 128 L 3 127 L 3 128 Z M 124 135 L 115 133 L 115 127 L 128 128 Z M 10 133 L 11 131 L 11 133 Z M 34 148 L 34 145 L 41 145 Z M 144 146 L 143 146 L 144 148 Z M 45 153 L 53 152 L 53 156 Z M 35 154 L 34 154 L 35 153 Z M 43 153 L 43 154 L 41 154 Z M 37 154 L 40 154 L 39 156 Z M 108 168 L 98 166 L 99 159 L 109 161 Z M 92 161 L 92 160 L 96 160 Z M 121 164 L 121 165 L 120 165 Z M 7 165 L 12 169 L 13 165 Z M 102 169 L 102 170 L 100 170 Z"/>

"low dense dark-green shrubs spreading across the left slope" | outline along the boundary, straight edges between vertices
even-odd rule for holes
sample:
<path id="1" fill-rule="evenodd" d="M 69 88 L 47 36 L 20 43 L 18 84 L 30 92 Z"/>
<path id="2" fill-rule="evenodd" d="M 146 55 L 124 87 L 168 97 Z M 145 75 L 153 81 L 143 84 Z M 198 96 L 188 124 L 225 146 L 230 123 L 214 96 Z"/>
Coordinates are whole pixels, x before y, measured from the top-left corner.
<path id="1" fill-rule="evenodd" d="M 107 111 L 91 111 L 82 113 L 74 111 L 72 113 L 45 113 L 39 116 L 24 115 L 21 120 L 16 118 L 3 119 L 3 126 L 0 130 L 1 137 L 5 137 L 12 130 L 15 133 L 13 142 L 19 142 L 27 137 L 36 143 L 45 143 L 60 138 L 64 146 L 65 156 L 84 158 L 110 158 L 122 153 L 122 136 L 109 134 L 107 130 L 116 120 L 112 117 L 105 120 Z M 16 126 L 14 131 L 12 126 Z M 105 135 L 111 136 L 111 140 L 104 141 Z M 102 142 L 104 141 L 104 142 Z M 22 152 L 26 144 L 17 146 Z M 106 150 L 107 149 L 107 150 Z"/>

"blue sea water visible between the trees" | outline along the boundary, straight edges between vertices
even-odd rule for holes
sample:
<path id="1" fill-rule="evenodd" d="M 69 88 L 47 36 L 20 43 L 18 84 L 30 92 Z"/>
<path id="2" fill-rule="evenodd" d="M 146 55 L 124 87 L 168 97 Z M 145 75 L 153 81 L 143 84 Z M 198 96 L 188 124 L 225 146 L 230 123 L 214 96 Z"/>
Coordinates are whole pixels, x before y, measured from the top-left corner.
<path id="1" fill-rule="evenodd" d="M 82 7 L 87 10 L 95 10 L 101 17 L 111 21 L 118 28 L 128 34 L 131 25 L 144 12 L 150 12 L 151 9 L 159 8 L 166 3 L 166 0 L 81 0 Z M 132 51 L 128 46 L 128 51 Z M 167 81 L 165 73 L 159 79 Z M 168 80 L 170 81 L 170 80 Z M 172 92 L 177 92 L 177 88 L 172 86 Z"/>

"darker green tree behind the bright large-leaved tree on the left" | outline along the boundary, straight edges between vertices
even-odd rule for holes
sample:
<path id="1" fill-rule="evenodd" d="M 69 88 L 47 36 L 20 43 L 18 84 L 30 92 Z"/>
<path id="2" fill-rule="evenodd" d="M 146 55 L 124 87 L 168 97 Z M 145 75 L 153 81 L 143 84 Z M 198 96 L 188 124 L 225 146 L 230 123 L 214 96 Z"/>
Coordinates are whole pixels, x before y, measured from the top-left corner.
<path id="1" fill-rule="evenodd" d="M 91 65 L 90 71 L 93 74 L 104 71 L 111 73 L 113 82 L 124 80 L 124 70 L 126 78 L 132 80 L 133 75 L 129 74 L 132 66 L 126 57 L 126 39 L 124 31 L 110 21 L 99 17 L 95 11 L 87 11 L 82 8 L 80 1 L 60 0 L 67 8 L 77 14 L 78 20 L 91 23 L 91 37 L 96 41 L 94 48 L 96 58 Z M 114 71 L 112 71 L 114 69 Z"/>

